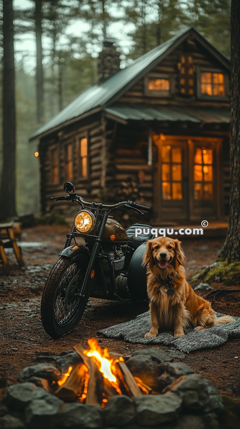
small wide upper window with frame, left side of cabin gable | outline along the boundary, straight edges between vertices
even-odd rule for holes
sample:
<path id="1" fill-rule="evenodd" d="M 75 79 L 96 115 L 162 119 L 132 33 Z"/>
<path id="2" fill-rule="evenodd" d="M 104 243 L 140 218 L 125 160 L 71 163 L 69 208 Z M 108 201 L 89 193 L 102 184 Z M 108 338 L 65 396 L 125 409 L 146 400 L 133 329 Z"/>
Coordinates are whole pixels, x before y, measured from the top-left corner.
<path id="1" fill-rule="evenodd" d="M 145 94 L 151 97 L 169 97 L 171 95 L 171 77 L 151 74 L 145 78 Z"/>

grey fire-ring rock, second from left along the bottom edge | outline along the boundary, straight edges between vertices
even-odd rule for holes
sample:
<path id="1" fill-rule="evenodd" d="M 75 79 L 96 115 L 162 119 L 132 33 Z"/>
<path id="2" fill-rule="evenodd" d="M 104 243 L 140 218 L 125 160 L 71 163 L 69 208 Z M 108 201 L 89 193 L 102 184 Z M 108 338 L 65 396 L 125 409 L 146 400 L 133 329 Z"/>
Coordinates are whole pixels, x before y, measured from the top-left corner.
<path id="1" fill-rule="evenodd" d="M 33 399 L 25 410 L 27 426 L 32 429 L 52 429 L 62 407 L 63 401 L 53 395 Z"/>

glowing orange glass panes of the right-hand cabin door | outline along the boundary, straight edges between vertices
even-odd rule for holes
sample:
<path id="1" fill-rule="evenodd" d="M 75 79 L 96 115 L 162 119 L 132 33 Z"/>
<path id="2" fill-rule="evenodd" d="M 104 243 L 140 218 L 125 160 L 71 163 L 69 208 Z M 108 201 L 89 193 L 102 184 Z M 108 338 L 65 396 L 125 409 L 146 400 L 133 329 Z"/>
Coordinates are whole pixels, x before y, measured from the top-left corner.
<path id="1" fill-rule="evenodd" d="M 194 199 L 213 199 L 213 150 L 195 148 Z"/>

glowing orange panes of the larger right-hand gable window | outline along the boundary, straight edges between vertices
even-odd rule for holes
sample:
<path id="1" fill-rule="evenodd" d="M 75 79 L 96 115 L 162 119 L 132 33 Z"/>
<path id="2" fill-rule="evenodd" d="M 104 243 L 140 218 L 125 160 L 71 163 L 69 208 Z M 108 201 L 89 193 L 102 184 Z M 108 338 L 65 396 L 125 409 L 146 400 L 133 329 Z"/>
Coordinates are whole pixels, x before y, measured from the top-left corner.
<path id="1" fill-rule="evenodd" d="M 201 94 L 216 97 L 224 96 L 224 75 L 222 73 L 202 72 Z"/>

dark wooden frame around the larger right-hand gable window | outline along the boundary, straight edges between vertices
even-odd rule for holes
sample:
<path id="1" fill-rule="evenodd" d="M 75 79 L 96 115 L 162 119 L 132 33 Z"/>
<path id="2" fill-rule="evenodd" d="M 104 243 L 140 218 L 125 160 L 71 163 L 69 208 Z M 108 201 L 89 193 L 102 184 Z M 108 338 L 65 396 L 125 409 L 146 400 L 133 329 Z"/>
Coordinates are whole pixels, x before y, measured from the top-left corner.
<path id="1" fill-rule="evenodd" d="M 197 67 L 196 71 L 197 71 L 197 97 L 200 100 L 214 100 L 214 101 L 229 100 L 230 98 L 229 79 L 228 79 L 228 74 L 224 70 L 214 69 L 209 67 Z M 201 73 L 222 73 L 224 76 L 225 95 L 201 94 Z"/>

